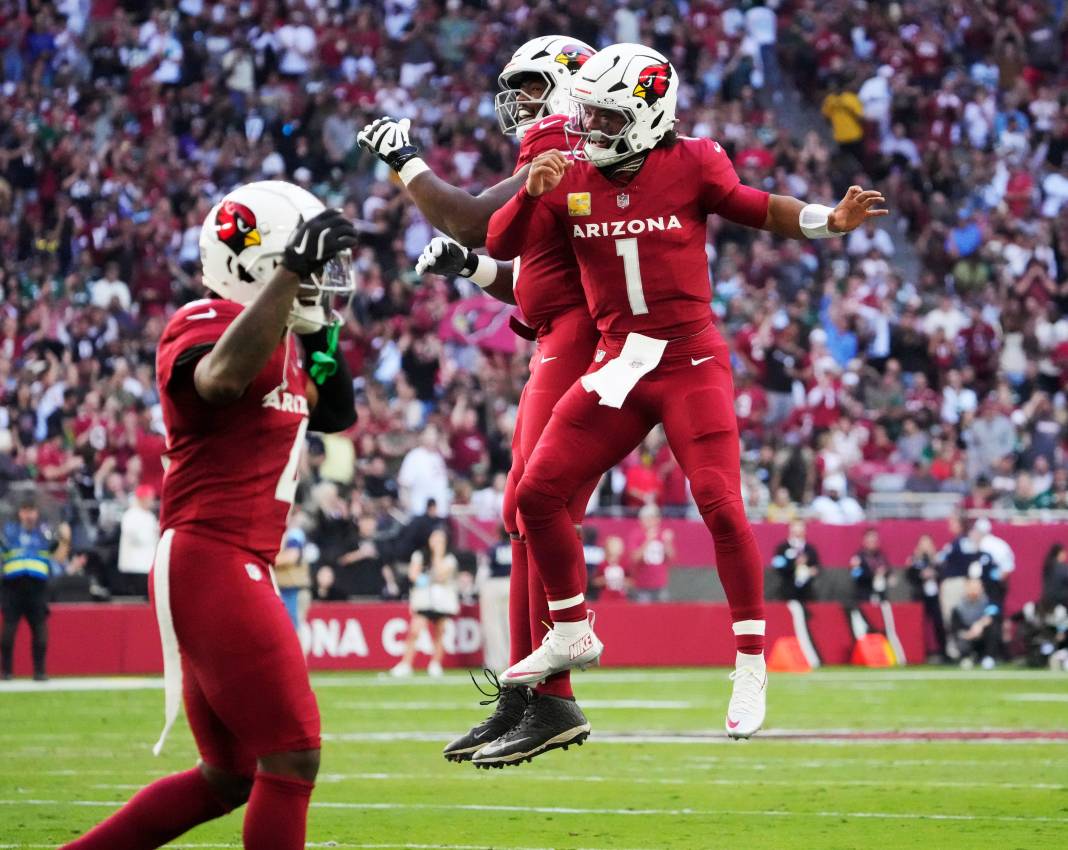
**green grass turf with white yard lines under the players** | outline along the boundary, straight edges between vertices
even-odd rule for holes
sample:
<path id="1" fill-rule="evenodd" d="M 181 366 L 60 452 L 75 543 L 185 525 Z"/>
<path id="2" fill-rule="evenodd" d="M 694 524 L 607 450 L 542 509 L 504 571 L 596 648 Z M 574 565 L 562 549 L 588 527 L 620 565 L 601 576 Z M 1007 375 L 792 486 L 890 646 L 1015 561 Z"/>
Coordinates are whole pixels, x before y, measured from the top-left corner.
<path id="1" fill-rule="evenodd" d="M 608 670 L 576 681 L 594 727 L 585 746 L 476 771 L 440 756 L 486 711 L 464 674 L 315 676 L 326 740 L 310 846 L 1068 847 L 1068 742 L 722 742 L 723 670 Z M 769 706 L 769 730 L 1063 731 L 1068 678 L 822 671 L 773 676 Z M 161 720 L 159 690 L 0 688 L 0 847 L 54 847 L 112 808 L 96 803 L 188 768 L 184 721 L 152 756 Z M 711 737 L 656 740 L 670 733 Z M 240 814 L 173 846 L 239 847 Z"/>

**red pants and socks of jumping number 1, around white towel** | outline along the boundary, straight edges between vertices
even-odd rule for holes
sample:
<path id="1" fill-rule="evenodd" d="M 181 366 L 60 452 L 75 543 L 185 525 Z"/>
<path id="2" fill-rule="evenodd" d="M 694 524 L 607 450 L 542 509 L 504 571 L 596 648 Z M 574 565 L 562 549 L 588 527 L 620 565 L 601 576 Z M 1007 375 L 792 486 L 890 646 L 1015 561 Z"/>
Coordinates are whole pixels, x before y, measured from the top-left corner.
<path id="1" fill-rule="evenodd" d="M 607 360 L 623 340 L 606 341 Z M 591 372 L 600 364 L 591 367 Z M 582 547 L 567 513 L 585 482 L 623 460 L 662 423 L 712 533 L 732 619 L 764 618 L 764 568 L 741 501 L 738 424 L 726 343 L 710 325 L 669 343 L 660 364 L 630 391 L 621 409 L 599 404 L 581 383 L 553 410 L 516 492 L 520 521 L 549 599 L 583 593 Z M 553 612 L 575 619 L 581 611 Z"/>

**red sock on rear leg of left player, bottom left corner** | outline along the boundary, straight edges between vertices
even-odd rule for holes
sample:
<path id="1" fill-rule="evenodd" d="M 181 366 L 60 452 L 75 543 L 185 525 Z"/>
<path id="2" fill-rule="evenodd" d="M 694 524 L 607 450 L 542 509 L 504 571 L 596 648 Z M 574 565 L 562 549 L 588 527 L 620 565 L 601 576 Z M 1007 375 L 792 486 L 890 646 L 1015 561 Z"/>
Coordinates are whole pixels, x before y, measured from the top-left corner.
<path id="1" fill-rule="evenodd" d="M 154 850 L 232 810 L 193 768 L 157 780 L 63 850 Z"/>

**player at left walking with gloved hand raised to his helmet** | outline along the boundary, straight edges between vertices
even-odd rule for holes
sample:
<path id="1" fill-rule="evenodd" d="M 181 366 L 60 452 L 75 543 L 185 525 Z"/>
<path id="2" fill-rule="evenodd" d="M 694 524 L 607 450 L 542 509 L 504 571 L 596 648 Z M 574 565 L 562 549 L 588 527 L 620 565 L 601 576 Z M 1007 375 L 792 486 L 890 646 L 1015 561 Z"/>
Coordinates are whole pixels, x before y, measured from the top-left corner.
<path id="1" fill-rule="evenodd" d="M 156 352 L 168 466 L 153 565 L 167 726 L 200 752 L 68 850 L 148 850 L 248 803 L 245 847 L 304 847 L 319 714 L 270 564 L 304 434 L 356 421 L 329 302 L 351 293 L 352 225 L 280 182 L 231 192 L 201 231 L 205 285 Z M 312 361 L 300 365 L 294 339 Z"/>

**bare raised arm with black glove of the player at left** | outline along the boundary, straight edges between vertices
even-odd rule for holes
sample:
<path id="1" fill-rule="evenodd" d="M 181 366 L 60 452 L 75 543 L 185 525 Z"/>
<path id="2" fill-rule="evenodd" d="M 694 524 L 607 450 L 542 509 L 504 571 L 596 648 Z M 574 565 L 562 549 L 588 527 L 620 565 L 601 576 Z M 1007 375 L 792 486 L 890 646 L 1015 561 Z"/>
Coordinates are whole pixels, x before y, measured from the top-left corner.
<path id="1" fill-rule="evenodd" d="M 356 242 L 356 230 L 340 210 L 326 209 L 301 222 L 267 285 L 197 363 L 198 394 L 218 405 L 240 398 L 278 347 L 300 281 Z"/>

